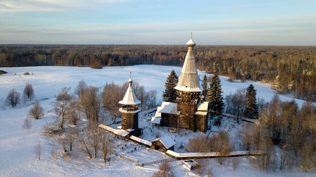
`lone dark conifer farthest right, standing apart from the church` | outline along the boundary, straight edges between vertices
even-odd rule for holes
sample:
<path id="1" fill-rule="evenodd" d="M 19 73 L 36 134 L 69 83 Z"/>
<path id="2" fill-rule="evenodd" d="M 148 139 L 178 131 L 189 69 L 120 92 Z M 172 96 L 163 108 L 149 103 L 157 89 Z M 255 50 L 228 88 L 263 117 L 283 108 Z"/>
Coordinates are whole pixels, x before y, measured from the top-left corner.
<path id="1" fill-rule="evenodd" d="M 258 117 L 258 104 L 257 104 L 257 90 L 250 84 L 246 93 L 246 109 L 244 114 L 249 119 L 255 119 Z"/>

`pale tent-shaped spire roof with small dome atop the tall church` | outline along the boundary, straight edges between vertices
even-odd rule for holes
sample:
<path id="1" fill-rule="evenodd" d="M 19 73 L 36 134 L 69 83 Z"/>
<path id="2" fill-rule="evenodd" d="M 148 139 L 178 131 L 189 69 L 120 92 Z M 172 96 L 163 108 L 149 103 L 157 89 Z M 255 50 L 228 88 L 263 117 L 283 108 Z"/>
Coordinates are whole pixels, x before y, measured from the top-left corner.
<path id="1" fill-rule="evenodd" d="M 193 51 L 195 43 L 192 38 L 187 43 L 187 46 L 189 48 L 192 47 L 192 50 L 188 50 L 181 70 L 181 75 L 175 89 L 187 92 L 201 92 Z"/>

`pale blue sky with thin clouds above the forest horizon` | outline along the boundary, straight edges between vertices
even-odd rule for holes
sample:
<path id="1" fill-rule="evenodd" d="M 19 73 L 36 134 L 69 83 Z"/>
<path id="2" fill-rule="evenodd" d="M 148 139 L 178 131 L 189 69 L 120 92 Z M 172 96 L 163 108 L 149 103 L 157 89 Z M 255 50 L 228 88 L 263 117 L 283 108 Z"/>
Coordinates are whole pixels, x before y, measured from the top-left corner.
<path id="1" fill-rule="evenodd" d="M 316 45 L 316 0 L 0 0 L 0 43 Z"/>

